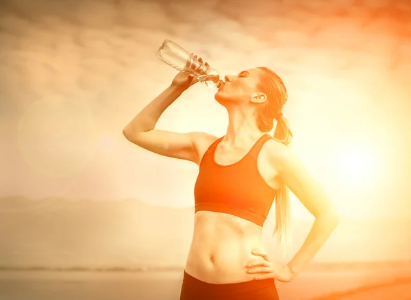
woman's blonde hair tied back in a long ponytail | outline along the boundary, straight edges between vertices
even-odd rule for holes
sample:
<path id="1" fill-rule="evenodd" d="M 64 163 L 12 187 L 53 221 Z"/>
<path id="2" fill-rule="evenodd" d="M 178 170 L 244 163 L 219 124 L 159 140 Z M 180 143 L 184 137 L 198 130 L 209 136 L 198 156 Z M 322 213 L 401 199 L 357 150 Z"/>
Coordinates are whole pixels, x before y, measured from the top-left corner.
<path id="1" fill-rule="evenodd" d="M 267 96 L 267 101 L 260 108 L 258 115 L 258 128 L 262 132 L 270 132 L 274 126 L 274 119 L 277 118 L 277 125 L 274 130 L 274 139 L 281 142 L 287 147 L 292 146 L 292 132 L 288 120 L 280 114 L 282 108 L 288 99 L 287 89 L 282 79 L 269 68 L 264 66 L 258 67 L 264 73 L 260 78 L 258 88 Z M 279 116 L 279 117 L 278 117 Z M 282 252 L 287 252 L 290 247 L 289 243 L 290 230 L 290 195 L 285 184 L 277 191 L 275 196 L 275 228 L 273 236 L 277 234 Z"/>

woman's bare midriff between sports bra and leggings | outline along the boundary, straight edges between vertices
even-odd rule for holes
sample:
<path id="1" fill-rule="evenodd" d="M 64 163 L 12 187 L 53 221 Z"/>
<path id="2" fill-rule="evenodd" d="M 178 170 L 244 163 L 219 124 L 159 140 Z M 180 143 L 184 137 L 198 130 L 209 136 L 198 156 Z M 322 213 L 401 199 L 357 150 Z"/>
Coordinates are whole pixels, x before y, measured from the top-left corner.
<path id="1" fill-rule="evenodd" d="M 253 250 L 265 251 L 262 227 L 221 212 L 195 214 L 194 234 L 185 271 L 210 284 L 229 284 L 253 280 L 246 264 L 264 260 Z"/>

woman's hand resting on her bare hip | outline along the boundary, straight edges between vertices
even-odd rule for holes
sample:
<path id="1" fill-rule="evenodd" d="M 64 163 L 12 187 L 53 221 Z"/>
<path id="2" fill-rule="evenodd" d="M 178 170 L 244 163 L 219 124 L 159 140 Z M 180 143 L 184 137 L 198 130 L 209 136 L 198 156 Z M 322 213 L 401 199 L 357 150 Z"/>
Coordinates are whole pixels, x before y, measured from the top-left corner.
<path id="1" fill-rule="evenodd" d="M 294 279 L 295 275 L 287 265 L 272 262 L 267 253 L 260 251 L 251 251 L 251 253 L 264 258 L 264 260 L 254 260 L 246 265 L 248 274 L 256 274 L 253 277 L 254 280 L 273 278 L 279 282 L 290 282 Z"/>

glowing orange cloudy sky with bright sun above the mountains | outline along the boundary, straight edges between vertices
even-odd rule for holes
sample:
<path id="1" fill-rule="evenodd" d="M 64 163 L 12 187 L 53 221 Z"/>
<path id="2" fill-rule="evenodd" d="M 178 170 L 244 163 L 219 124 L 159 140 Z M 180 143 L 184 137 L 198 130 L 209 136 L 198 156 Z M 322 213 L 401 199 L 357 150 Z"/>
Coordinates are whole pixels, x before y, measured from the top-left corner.
<path id="1" fill-rule="evenodd" d="M 221 75 L 267 66 L 286 84 L 293 150 L 342 216 L 410 216 L 411 3 L 407 0 L 33 1 L 0 12 L 0 197 L 194 204 L 198 166 L 122 129 L 177 73 L 164 39 Z M 223 136 L 200 84 L 158 129 Z M 308 212 L 292 198 L 293 213 Z"/>

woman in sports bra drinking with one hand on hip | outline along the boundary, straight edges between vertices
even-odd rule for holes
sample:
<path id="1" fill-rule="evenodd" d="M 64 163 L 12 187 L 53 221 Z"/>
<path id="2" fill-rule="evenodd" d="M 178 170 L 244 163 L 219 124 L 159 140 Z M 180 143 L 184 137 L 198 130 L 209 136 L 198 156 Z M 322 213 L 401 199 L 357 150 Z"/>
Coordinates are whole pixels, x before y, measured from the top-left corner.
<path id="1" fill-rule="evenodd" d="M 129 141 L 144 149 L 199 165 L 194 234 L 180 300 L 278 299 L 275 279 L 295 278 L 332 233 L 338 216 L 287 147 L 292 140 L 282 116 L 287 92 L 282 79 L 268 68 L 225 76 L 215 95 L 229 118 L 222 138 L 155 129 L 164 110 L 196 82 L 188 73 L 177 74 L 171 86 L 123 129 Z M 273 129 L 274 119 L 273 137 L 266 132 Z M 267 255 L 262 226 L 275 199 L 275 232 L 284 240 L 289 221 L 287 188 L 315 221 L 301 249 L 282 265 Z"/>

